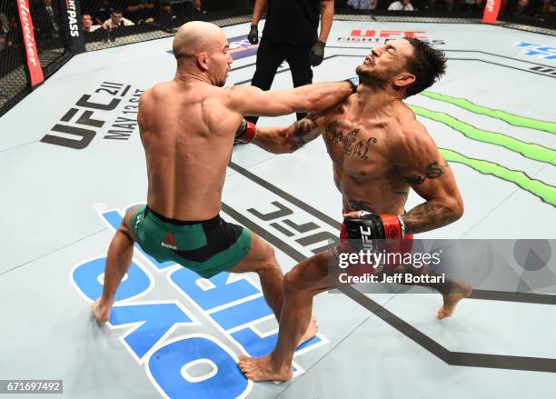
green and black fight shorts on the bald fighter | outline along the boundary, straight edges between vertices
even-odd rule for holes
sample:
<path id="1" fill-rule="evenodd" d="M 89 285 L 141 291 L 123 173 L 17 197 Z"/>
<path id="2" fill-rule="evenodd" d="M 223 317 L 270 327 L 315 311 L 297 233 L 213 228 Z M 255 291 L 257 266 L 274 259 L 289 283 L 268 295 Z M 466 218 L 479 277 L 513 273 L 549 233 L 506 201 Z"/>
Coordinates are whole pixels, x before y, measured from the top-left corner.
<path id="1" fill-rule="evenodd" d="M 158 262 L 173 261 L 204 278 L 230 270 L 251 249 L 251 232 L 220 215 L 202 222 L 183 222 L 139 207 L 131 228 L 144 252 Z"/>

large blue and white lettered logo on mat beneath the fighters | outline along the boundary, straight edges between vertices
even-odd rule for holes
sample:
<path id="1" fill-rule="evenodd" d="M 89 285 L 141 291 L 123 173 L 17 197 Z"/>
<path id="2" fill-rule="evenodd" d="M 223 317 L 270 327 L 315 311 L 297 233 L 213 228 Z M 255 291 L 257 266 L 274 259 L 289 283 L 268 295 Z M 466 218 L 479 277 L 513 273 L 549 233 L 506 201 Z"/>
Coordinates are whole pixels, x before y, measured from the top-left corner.
<path id="1" fill-rule="evenodd" d="M 114 231 L 122 224 L 123 214 L 118 209 L 99 212 Z M 71 271 L 74 288 L 89 303 L 102 294 L 105 262 L 104 256 L 87 259 Z M 156 284 L 173 288 L 175 295 L 142 299 Z M 124 330 L 119 341 L 144 366 L 146 377 L 164 397 L 227 398 L 251 393 L 253 382 L 237 367 L 237 354 L 261 356 L 273 350 L 278 331 L 259 329 L 261 322 L 273 317 L 263 293 L 249 277 L 221 273 L 204 279 L 181 265 L 157 262 L 135 244 L 131 267 L 116 292 L 107 325 Z M 178 327 L 182 334 L 173 335 Z M 207 333 L 214 329 L 218 336 Z M 326 343 L 318 334 L 300 345 L 296 354 Z M 293 370 L 294 374 L 303 372 L 296 364 Z"/>

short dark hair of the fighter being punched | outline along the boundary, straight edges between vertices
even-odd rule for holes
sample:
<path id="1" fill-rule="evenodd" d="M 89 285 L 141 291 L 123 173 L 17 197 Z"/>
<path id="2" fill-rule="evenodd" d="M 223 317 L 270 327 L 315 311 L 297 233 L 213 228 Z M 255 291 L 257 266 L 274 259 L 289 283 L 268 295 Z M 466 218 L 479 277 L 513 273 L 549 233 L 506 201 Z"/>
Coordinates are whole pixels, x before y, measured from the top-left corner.
<path id="1" fill-rule="evenodd" d="M 413 56 L 407 60 L 408 72 L 415 75 L 415 82 L 408 86 L 406 94 L 416 95 L 431 87 L 446 72 L 446 55 L 426 42 L 405 37 L 413 47 Z"/>

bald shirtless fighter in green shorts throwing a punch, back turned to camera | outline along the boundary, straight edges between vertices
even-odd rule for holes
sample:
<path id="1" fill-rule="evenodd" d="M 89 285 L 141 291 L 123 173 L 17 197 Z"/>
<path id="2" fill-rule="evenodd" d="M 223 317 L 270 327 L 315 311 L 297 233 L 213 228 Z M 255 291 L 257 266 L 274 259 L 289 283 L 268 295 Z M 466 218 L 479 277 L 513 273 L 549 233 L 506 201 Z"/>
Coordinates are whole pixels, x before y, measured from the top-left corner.
<path id="1" fill-rule="evenodd" d="M 254 125 L 243 115 L 319 112 L 347 98 L 354 86 L 344 81 L 273 92 L 250 85 L 223 88 L 232 64 L 228 41 L 218 26 L 200 21 L 180 27 L 173 49 L 174 80 L 144 92 L 139 105 L 147 205 L 127 212 L 114 234 L 94 317 L 109 320 L 135 242 L 157 260 L 174 261 L 205 278 L 223 271 L 259 274 L 264 298 L 279 317 L 283 274 L 273 248 L 219 215 L 233 143 L 253 138 Z M 304 339 L 315 333 L 313 322 Z"/>

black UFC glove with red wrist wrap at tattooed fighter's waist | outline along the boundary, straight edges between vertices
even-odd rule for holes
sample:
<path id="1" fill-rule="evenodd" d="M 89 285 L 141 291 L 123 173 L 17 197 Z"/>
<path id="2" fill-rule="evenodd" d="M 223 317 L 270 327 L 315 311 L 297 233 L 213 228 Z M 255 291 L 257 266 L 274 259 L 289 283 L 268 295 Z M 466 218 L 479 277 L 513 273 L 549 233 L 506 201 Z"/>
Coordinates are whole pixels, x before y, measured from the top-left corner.
<path id="1" fill-rule="evenodd" d="M 345 217 L 343 224 L 350 244 L 357 249 L 376 250 L 376 240 L 394 240 L 405 235 L 403 219 L 395 214 L 359 211 L 358 218 Z"/>

